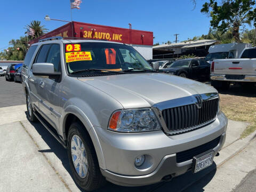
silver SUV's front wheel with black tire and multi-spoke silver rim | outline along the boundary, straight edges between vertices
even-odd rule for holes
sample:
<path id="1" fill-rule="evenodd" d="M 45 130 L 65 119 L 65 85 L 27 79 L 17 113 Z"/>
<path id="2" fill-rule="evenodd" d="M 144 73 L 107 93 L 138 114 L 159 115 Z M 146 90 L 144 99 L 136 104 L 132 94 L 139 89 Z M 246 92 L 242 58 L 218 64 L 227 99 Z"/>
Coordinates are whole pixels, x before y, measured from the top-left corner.
<path id="1" fill-rule="evenodd" d="M 80 145 L 81 147 L 76 145 L 76 140 L 82 141 L 82 144 Z M 93 147 L 92 141 L 90 139 L 90 135 L 85 131 L 85 127 L 81 123 L 75 122 L 70 125 L 68 131 L 67 146 L 69 165 L 76 183 L 82 189 L 87 191 L 92 191 L 102 187 L 105 184 L 106 179 L 102 176 L 100 172 L 98 158 Z M 76 150 L 74 150 L 74 148 Z M 77 148 L 82 150 L 77 150 Z M 73 162 L 73 158 L 74 162 L 77 161 L 76 163 Z M 85 166 L 86 162 L 87 172 Z M 81 171 L 77 172 L 75 166 L 77 167 L 77 170 L 79 170 L 79 167 L 82 167 L 82 165 L 84 165 L 85 167 L 84 171 L 82 172 L 81 168 Z"/>

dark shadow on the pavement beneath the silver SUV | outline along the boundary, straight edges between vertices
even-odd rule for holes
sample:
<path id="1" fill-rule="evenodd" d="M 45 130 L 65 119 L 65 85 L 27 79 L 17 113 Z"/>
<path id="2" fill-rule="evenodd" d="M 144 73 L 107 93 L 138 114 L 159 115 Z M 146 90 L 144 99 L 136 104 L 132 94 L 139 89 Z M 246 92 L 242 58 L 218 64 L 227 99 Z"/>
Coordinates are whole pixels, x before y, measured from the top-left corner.
<path id="1" fill-rule="evenodd" d="M 26 111 L 27 114 L 27 111 Z M 55 138 L 49 133 L 45 127 L 40 123 L 34 123 L 30 122 L 31 125 L 35 127 L 35 130 L 41 135 L 42 139 L 46 142 L 46 144 L 50 147 L 50 149 L 42 149 L 38 150 L 40 153 L 54 153 L 62 162 L 63 167 L 67 170 L 67 172 L 70 174 L 70 176 L 73 178 L 70 167 L 69 167 L 69 161 L 68 161 L 68 155 L 65 148 L 61 146 L 61 144 L 55 140 Z M 173 178 L 173 180 L 169 182 L 161 182 L 156 183 L 154 185 L 149 186 L 142 186 L 142 187 L 122 187 L 114 185 L 113 183 L 107 182 L 106 185 L 96 190 L 97 192 L 103 192 L 103 191 L 124 191 L 124 192 L 130 192 L 131 190 L 133 192 L 139 192 L 139 191 L 182 191 L 185 190 L 185 186 L 191 185 L 191 183 L 200 180 L 200 178 L 203 178 L 204 184 L 202 187 L 197 188 L 195 191 L 203 191 L 203 187 L 211 181 L 215 174 L 216 170 L 216 164 L 213 163 L 211 167 L 208 167 L 205 170 L 202 170 L 199 173 L 193 174 L 191 171 L 180 175 L 178 177 Z M 205 176 L 205 174 L 207 174 Z M 74 178 L 73 178 L 74 180 Z M 74 180 L 75 182 L 75 180 Z M 77 184 L 77 188 L 79 188 L 81 191 L 84 191 L 81 189 Z"/>

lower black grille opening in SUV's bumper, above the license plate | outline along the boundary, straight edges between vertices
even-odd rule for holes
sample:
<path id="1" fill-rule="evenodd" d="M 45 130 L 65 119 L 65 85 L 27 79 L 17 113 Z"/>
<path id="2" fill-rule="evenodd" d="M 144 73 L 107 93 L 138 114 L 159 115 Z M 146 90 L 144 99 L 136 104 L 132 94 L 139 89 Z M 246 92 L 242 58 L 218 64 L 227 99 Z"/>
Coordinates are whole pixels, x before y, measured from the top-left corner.
<path id="1" fill-rule="evenodd" d="M 220 142 L 220 137 L 218 137 L 210 142 L 207 142 L 201 146 L 198 146 L 198 147 L 195 147 L 192 149 L 188 149 L 185 151 L 181 151 L 176 154 L 176 161 L 177 161 L 177 163 L 188 161 L 189 159 L 192 159 L 196 155 L 199 155 L 201 153 L 204 153 L 207 150 L 217 147 L 219 142 Z"/>

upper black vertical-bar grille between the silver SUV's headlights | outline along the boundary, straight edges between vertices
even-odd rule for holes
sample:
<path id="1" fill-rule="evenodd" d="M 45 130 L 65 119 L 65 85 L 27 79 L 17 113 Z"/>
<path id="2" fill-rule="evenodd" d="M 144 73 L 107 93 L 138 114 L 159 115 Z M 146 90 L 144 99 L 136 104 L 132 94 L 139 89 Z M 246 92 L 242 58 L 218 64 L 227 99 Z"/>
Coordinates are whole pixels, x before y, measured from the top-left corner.
<path id="1" fill-rule="evenodd" d="M 163 119 L 167 129 L 172 132 L 186 131 L 201 124 L 212 121 L 218 112 L 219 98 L 202 102 L 202 107 L 196 104 L 179 106 L 162 111 Z"/>

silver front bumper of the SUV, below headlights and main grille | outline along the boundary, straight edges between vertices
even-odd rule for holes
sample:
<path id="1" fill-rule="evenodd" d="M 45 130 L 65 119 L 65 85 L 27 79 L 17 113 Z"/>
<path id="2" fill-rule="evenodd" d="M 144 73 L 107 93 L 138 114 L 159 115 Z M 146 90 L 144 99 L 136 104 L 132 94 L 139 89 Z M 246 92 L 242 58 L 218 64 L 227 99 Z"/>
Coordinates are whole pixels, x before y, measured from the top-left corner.
<path id="1" fill-rule="evenodd" d="M 213 123 L 201 129 L 171 136 L 162 131 L 115 133 L 94 127 L 106 164 L 101 172 L 108 181 L 122 186 L 150 185 L 162 181 L 166 175 L 176 177 L 192 167 L 192 159 L 177 163 L 178 152 L 220 137 L 219 144 L 213 148 L 216 155 L 225 142 L 226 129 L 227 118 L 223 113 L 218 113 Z M 135 167 L 135 157 L 143 154 L 150 158 L 141 168 Z"/>

